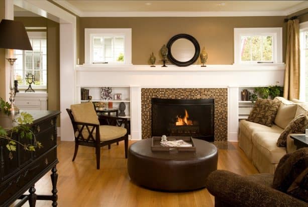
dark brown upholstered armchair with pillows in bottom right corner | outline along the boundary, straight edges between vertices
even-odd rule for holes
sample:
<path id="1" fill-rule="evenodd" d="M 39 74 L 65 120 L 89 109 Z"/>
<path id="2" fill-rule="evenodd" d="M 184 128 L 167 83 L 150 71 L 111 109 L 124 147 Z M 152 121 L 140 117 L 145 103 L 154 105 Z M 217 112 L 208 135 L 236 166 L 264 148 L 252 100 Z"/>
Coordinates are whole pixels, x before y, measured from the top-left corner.
<path id="1" fill-rule="evenodd" d="M 281 158 L 274 175 L 212 172 L 207 188 L 215 206 L 308 206 L 308 148 L 294 153 Z"/>

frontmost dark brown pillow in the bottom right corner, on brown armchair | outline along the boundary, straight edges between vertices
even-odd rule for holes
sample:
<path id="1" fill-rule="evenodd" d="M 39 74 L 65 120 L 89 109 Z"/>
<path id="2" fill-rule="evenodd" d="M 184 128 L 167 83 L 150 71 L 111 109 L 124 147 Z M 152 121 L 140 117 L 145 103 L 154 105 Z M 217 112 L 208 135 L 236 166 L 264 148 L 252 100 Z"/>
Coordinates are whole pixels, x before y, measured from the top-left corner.
<path id="1" fill-rule="evenodd" d="M 308 167 L 297 176 L 286 192 L 308 202 Z"/>

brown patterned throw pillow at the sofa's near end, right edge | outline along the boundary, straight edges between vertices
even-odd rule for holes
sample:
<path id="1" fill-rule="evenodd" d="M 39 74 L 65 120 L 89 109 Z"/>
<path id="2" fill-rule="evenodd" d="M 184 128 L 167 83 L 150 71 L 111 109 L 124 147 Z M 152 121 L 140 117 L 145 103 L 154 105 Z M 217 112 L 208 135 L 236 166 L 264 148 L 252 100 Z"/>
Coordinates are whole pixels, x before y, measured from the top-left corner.
<path id="1" fill-rule="evenodd" d="M 308 113 L 295 117 L 282 131 L 278 140 L 278 147 L 286 147 L 286 138 L 289 134 L 303 134 L 308 128 Z"/>

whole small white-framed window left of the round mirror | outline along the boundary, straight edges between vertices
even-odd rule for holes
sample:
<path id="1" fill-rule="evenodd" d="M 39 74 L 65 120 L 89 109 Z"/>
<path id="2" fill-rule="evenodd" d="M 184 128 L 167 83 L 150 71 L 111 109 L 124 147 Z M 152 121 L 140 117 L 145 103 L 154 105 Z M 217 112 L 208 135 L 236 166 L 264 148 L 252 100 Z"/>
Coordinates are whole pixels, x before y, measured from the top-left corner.
<path id="1" fill-rule="evenodd" d="M 85 29 L 86 64 L 131 64 L 131 29 Z"/>

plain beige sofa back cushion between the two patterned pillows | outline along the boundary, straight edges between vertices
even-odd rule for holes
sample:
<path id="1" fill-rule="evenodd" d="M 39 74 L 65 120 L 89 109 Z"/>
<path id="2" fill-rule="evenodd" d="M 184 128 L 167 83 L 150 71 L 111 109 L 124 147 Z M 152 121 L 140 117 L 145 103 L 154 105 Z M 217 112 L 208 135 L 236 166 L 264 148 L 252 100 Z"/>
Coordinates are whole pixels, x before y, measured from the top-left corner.
<path id="1" fill-rule="evenodd" d="M 294 119 L 296 109 L 296 104 L 284 104 L 281 102 L 274 121 L 275 125 L 282 129 L 286 128 L 286 126 Z"/>

